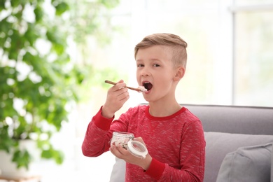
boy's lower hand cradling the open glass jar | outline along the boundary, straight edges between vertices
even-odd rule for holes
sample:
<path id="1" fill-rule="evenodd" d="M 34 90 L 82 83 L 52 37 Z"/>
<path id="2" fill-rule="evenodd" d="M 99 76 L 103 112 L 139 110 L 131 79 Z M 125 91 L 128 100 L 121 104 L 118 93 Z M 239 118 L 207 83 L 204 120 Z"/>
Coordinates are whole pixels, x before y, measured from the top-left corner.
<path id="1" fill-rule="evenodd" d="M 134 138 L 134 140 L 140 141 L 142 144 L 145 145 L 145 143 L 141 137 Z M 112 145 L 110 147 L 110 151 L 117 158 L 123 159 L 123 160 L 125 160 L 125 162 L 128 162 L 130 164 L 138 165 L 138 166 L 142 167 L 144 170 L 148 169 L 148 167 L 150 166 L 151 161 L 152 161 L 152 157 L 151 157 L 151 155 L 149 155 L 149 153 L 146 155 L 145 159 L 138 158 L 138 157 L 132 155 L 132 153 L 130 153 L 130 151 L 123 148 L 123 146 L 121 146 L 121 145 L 118 145 L 118 146 Z"/>

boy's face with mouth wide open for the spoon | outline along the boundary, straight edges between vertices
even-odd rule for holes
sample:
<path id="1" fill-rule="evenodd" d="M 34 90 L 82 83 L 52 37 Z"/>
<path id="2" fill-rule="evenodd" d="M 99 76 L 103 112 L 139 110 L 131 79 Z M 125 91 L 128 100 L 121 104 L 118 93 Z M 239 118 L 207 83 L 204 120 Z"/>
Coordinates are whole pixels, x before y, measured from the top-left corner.
<path id="1" fill-rule="evenodd" d="M 172 51 L 164 45 L 153 45 L 139 49 L 136 57 L 137 82 L 146 87 L 144 98 L 148 102 L 174 97 L 175 87 L 180 80 L 179 68 L 174 68 Z"/>

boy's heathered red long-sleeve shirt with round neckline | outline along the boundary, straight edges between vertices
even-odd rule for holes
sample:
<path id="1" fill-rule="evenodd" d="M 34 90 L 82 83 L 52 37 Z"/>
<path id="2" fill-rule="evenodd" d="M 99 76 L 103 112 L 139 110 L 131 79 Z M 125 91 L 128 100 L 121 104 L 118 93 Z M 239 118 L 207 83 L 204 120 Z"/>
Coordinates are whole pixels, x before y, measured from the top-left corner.
<path id="1" fill-rule="evenodd" d="M 144 139 L 153 160 L 146 172 L 127 163 L 125 181 L 203 181 L 206 144 L 201 121 L 185 107 L 166 117 L 148 111 L 148 105 L 136 106 L 113 120 L 100 110 L 87 127 L 83 154 L 99 156 L 109 151 L 113 132 L 131 132 Z"/>

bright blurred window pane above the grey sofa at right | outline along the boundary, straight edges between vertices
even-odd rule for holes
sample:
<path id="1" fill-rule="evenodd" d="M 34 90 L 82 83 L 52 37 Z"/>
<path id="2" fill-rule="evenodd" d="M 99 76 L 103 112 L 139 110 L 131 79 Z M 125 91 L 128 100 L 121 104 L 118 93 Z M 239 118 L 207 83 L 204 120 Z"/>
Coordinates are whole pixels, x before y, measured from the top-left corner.
<path id="1" fill-rule="evenodd" d="M 238 6 L 234 14 L 233 104 L 273 106 L 273 2 Z"/>

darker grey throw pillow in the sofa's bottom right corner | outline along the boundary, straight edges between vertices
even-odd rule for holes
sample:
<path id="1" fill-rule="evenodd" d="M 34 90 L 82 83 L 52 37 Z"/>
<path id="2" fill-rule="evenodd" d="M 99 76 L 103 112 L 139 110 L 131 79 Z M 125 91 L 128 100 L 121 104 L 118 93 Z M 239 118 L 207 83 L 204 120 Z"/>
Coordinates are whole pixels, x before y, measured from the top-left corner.
<path id="1" fill-rule="evenodd" d="M 270 182 L 272 143 L 238 148 L 228 153 L 216 182 Z"/>

